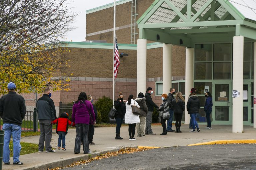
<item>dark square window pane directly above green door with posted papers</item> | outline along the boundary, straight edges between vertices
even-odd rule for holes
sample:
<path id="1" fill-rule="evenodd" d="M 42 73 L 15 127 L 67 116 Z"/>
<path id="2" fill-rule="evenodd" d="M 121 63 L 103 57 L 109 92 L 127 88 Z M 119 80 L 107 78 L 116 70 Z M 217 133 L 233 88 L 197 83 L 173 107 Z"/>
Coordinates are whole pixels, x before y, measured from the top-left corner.
<path id="1" fill-rule="evenodd" d="M 215 62 L 213 63 L 213 79 L 231 79 L 231 63 Z"/>

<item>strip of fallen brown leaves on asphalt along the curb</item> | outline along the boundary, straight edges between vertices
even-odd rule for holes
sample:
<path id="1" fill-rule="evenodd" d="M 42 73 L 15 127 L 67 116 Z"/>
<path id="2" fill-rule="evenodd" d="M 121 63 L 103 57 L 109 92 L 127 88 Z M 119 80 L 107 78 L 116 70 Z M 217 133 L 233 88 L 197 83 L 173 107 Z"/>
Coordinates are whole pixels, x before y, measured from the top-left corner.
<path id="1" fill-rule="evenodd" d="M 110 158 L 110 157 L 118 156 L 118 155 L 120 155 L 120 154 L 130 154 L 130 153 L 134 153 L 134 152 L 143 152 L 143 151 L 149 150 L 149 149 L 153 149 L 153 148 L 146 148 L 146 147 L 141 147 L 141 148 L 126 147 L 126 148 L 119 149 L 118 151 L 115 151 L 115 152 L 107 152 L 107 153 L 105 153 L 105 154 L 100 154 L 99 156 L 96 156 L 96 157 L 94 157 L 94 158 L 90 158 L 90 154 L 89 154 L 89 159 L 87 159 L 87 160 L 80 160 L 80 161 L 74 162 L 74 163 L 72 163 L 71 165 L 68 165 L 68 166 L 65 166 L 65 167 L 57 167 L 57 168 L 53 168 L 53 169 L 47 168 L 47 170 L 59 170 L 59 169 L 68 168 L 68 167 L 74 167 L 74 166 L 82 165 L 82 164 L 87 165 L 87 163 L 92 162 L 92 161 L 95 161 L 95 160 Z"/>

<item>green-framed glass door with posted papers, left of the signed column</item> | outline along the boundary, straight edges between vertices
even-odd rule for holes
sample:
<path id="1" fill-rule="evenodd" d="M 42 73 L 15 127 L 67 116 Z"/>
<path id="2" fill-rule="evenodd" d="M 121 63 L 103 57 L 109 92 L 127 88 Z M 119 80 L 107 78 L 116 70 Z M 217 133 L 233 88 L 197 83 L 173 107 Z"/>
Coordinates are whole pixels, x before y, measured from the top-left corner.
<path id="1" fill-rule="evenodd" d="M 231 82 L 214 82 L 212 97 L 212 123 L 231 125 Z"/>

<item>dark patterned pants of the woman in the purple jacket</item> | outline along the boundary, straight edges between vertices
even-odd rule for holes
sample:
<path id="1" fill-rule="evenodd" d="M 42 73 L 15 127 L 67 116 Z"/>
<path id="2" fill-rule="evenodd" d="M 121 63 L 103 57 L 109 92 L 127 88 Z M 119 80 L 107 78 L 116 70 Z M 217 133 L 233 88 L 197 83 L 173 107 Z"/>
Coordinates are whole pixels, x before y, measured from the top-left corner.
<path id="1" fill-rule="evenodd" d="M 88 124 L 76 124 L 75 153 L 80 153 L 80 142 L 82 136 L 84 154 L 89 152 L 88 131 Z"/>

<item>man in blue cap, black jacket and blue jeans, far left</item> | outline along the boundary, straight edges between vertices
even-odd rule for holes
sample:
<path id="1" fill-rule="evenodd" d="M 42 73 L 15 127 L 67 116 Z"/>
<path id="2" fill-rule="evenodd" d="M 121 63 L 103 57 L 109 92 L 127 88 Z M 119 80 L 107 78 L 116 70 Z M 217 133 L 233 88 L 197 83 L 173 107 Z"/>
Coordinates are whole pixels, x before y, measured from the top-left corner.
<path id="1" fill-rule="evenodd" d="M 22 120 L 26 115 L 26 105 L 24 98 L 15 92 L 16 85 L 13 82 L 8 83 L 7 89 L 8 94 L 0 99 L 0 117 L 3 120 L 2 129 L 4 130 L 3 162 L 4 165 L 11 163 L 9 144 L 12 135 L 13 165 L 22 165 L 23 163 L 19 160 L 20 137 Z"/>

